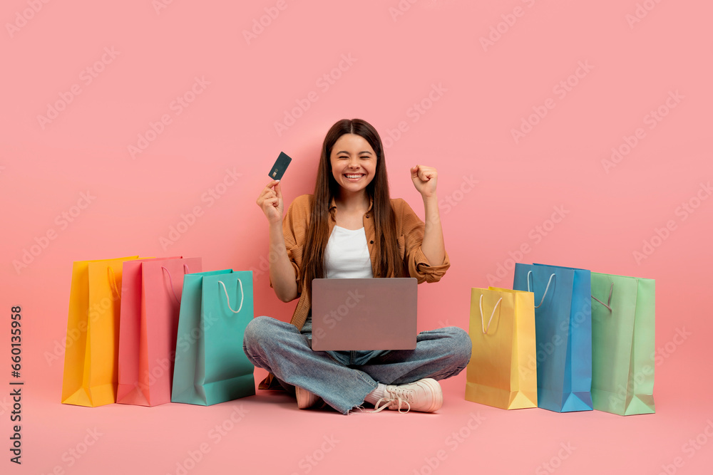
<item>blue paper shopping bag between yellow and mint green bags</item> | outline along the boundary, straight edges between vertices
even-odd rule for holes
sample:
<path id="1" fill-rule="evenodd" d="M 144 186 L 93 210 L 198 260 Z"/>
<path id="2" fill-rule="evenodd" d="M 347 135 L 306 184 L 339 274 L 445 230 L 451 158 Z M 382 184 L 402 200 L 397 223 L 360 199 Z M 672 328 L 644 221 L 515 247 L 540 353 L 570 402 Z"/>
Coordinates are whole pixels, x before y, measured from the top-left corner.
<path id="1" fill-rule="evenodd" d="M 590 271 L 517 263 L 513 288 L 535 294 L 538 407 L 592 410 Z"/>

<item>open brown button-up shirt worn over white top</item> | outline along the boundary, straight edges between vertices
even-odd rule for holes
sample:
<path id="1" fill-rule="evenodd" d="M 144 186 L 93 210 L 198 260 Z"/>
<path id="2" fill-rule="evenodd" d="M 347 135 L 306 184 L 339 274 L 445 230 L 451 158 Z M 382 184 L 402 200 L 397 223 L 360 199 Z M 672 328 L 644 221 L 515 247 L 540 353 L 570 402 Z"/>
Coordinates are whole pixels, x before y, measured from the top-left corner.
<path id="1" fill-rule="evenodd" d="M 287 214 L 282 221 L 282 234 L 284 235 L 284 245 L 287 248 L 287 256 L 294 268 L 294 278 L 297 281 L 297 306 L 294 308 L 292 320 L 290 323 L 297 328 L 302 328 L 307 315 L 312 307 L 309 301 L 307 292 L 303 292 L 304 286 L 307 283 L 304 281 L 304 276 L 300 273 L 299 267 L 302 264 L 304 244 L 307 241 L 307 228 L 309 226 L 309 215 L 312 212 L 312 194 L 302 194 L 292 201 L 287 209 Z M 371 213 L 371 208 L 374 202 L 369 197 L 369 209 L 366 210 L 362 221 L 364 223 L 364 233 L 366 234 L 366 245 L 369 247 L 369 256 L 371 257 L 371 271 L 376 276 L 378 269 L 376 268 L 376 252 L 373 252 L 376 242 L 376 232 L 374 230 L 374 216 Z M 409 269 L 409 276 L 417 279 L 418 283 L 423 282 L 438 282 L 446 273 L 451 262 L 448 260 L 446 252 L 443 263 L 438 266 L 431 266 L 426 258 L 424 251 L 421 251 L 421 243 L 424 241 L 424 221 L 421 221 L 419 216 L 414 213 L 414 210 L 409 207 L 409 204 L 401 198 L 391 199 L 391 207 L 396 215 L 396 241 L 399 246 L 399 254 L 404 259 L 405 267 Z M 337 204 L 332 198 L 329 204 L 329 235 L 332 235 L 334 225 L 337 224 Z M 272 287 L 272 280 L 270 280 Z M 272 384 L 271 384 L 272 383 Z M 260 383 L 260 388 L 274 387 L 277 381 L 270 374 L 265 381 Z M 279 386 L 279 384 L 277 385 Z"/>

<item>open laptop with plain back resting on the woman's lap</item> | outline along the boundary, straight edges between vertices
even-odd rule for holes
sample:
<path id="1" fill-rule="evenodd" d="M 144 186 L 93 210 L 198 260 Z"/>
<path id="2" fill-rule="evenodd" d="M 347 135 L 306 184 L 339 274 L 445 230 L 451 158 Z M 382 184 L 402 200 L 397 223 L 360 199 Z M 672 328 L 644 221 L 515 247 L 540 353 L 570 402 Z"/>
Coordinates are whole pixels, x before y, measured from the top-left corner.
<path id="1" fill-rule="evenodd" d="M 416 278 L 312 280 L 312 350 L 414 350 Z"/>

